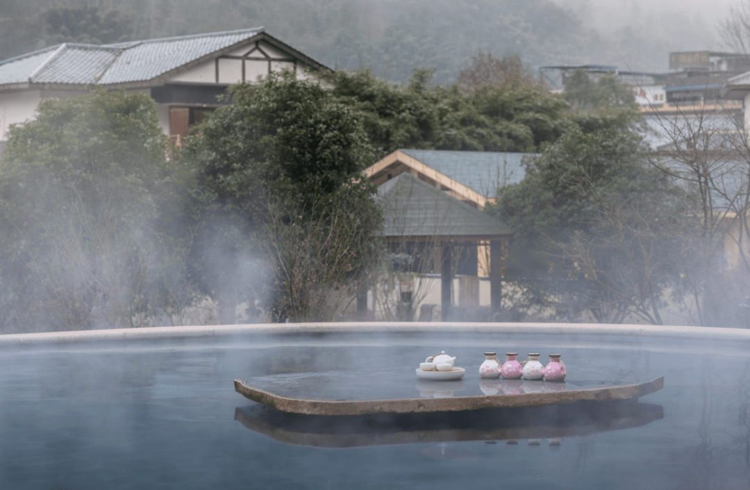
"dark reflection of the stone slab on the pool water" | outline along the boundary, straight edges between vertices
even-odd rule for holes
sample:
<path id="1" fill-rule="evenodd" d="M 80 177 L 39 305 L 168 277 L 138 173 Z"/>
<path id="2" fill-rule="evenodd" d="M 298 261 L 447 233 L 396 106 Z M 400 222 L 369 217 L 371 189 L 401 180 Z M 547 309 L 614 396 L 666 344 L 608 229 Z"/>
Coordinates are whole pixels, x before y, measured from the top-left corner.
<path id="1" fill-rule="evenodd" d="M 637 401 L 366 416 L 300 415 L 261 404 L 235 409 L 235 419 L 252 431 L 282 443 L 332 448 L 539 439 L 549 439 L 550 446 L 559 446 L 562 437 L 639 427 L 663 417 L 660 405 Z"/>

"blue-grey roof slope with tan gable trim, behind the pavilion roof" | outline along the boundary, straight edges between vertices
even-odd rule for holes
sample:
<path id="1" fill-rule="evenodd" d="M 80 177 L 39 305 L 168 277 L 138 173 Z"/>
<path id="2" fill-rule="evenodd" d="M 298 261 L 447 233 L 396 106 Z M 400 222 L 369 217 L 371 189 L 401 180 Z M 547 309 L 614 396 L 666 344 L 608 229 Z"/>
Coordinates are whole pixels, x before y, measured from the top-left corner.
<path id="1" fill-rule="evenodd" d="M 490 199 L 497 197 L 498 188 L 523 180 L 526 175 L 523 159 L 535 156 L 532 153 L 413 149 L 401 152 Z"/>

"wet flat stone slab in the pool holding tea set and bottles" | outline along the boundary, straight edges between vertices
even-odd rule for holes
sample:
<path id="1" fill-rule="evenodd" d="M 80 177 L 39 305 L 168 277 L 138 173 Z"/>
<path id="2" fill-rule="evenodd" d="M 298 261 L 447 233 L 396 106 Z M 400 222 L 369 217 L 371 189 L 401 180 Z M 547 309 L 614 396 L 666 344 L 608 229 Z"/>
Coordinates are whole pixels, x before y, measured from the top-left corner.
<path id="1" fill-rule="evenodd" d="M 430 413 L 495 407 L 532 407 L 577 401 L 640 398 L 664 387 L 664 377 L 648 379 L 606 368 L 571 369 L 565 383 L 529 380 L 426 381 L 413 368 L 273 374 L 236 379 L 236 392 L 289 413 L 366 415 Z M 487 393 L 490 393 L 489 395 Z M 495 394 L 496 393 L 496 394 Z"/>

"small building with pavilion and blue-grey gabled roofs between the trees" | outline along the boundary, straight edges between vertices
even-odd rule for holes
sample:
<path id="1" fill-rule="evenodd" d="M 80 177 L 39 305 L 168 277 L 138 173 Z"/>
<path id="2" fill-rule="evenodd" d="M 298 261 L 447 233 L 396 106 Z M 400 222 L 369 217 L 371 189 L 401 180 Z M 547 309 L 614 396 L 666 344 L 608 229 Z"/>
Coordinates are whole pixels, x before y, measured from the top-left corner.
<path id="1" fill-rule="evenodd" d="M 378 186 L 392 272 L 368 303 L 378 320 L 502 318 L 511 229 L 481 209 L 523 180 L 531 153 L 399 149 L 365 169 Z M 506 299 L 507 301 L 507 299 Z"/>

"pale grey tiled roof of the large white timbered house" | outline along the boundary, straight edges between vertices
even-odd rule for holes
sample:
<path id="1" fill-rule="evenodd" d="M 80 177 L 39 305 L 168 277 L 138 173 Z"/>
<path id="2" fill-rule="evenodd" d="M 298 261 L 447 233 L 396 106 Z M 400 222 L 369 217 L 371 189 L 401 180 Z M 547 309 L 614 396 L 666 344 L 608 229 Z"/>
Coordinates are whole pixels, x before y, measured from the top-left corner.
<path id="1" fill-rule="evenodd" d="M 104 85 L 152 80 L 261 32 L 263 28 L 259 27 L 101 46 L 60 44 L 0 62 L 0 85 Z"/>

